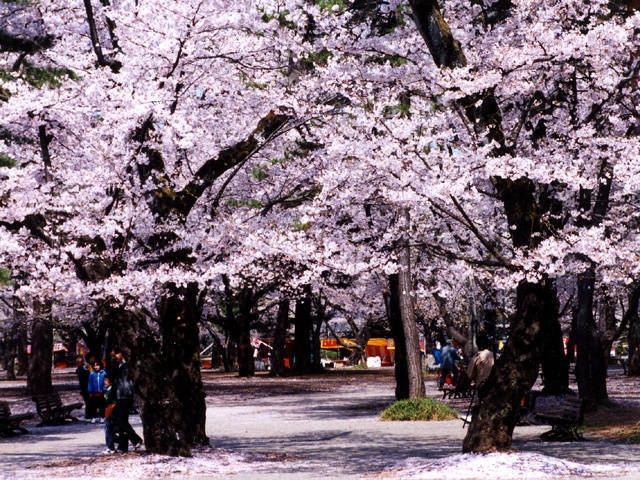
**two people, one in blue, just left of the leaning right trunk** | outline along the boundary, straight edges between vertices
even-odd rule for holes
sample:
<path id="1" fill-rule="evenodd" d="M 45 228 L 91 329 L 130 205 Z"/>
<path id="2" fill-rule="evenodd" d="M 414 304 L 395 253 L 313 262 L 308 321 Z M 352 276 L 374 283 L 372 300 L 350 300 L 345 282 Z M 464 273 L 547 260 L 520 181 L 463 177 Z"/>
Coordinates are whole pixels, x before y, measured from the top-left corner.
<path id="1" fill-rule="evenodd" d="M 438 379 L 440 388 L 449 382 L 457 385 L 463 363 L 462 350 L 458 343 L 455 340 L 448 340 L 442 350 L 434 353 L 434 357 L 436 357 L 436 363 L 440 364 Z M 437 362 L 438 359 L 440 362 Z M 472 387 L 481 385 L 489 377 L 493 364 L 493 352 L 489 350 L 486 342 L 478 342 L 478 351 L 469 360 L 465 372 Z"/>

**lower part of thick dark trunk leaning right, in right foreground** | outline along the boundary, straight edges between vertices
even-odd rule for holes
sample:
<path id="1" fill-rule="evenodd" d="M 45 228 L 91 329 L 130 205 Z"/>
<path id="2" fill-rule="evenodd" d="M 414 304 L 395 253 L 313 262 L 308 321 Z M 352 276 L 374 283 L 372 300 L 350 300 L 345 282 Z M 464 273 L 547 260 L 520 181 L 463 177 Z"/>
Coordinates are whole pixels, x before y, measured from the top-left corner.
<path id="1" fill-rule="evenodd" d="M 549 319 L 557 312 L 555 291 L 548 280 L 518 286 L 509 339 L 478 392 L 480 407 L 464 439 L 464 452 L 510 449 L 522 401 L 538 377 L 542 338 L 549 329 Z"/>

